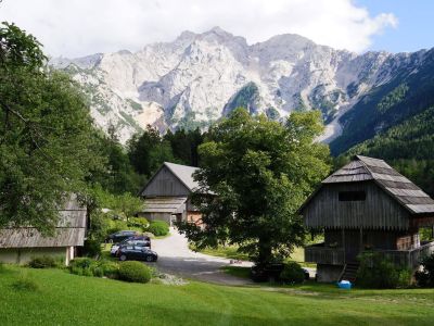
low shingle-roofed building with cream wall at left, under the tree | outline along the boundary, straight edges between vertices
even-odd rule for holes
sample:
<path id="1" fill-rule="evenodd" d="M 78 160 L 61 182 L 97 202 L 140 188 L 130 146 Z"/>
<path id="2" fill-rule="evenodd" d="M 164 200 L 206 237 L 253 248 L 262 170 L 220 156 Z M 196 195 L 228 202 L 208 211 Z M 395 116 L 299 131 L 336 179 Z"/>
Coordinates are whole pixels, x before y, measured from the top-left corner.
<path id="1" fill-rule="evenodd" d="M 67 265 L 84 246 L 87 211 L 72 197 L 60 211 L 55 236 L 43 237 L 34 227 L 0 229 L 0 262 L 26 264 L 31 258 L 51 255 Z"/>

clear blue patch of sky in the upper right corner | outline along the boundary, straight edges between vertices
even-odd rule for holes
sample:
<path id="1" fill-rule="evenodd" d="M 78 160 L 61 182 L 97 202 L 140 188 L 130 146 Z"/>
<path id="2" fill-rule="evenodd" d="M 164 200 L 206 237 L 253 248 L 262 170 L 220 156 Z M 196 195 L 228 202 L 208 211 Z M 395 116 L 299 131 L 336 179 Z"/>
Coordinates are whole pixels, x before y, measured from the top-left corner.
<path id="1" fill-rule="evenodd" d="M 393 13 L 398 20 L 395 28 L 385 28 L 372 36 L 370 50 L 408 52 L 434 47 L 433 0 L 356 0 L 371 15 Z"/>

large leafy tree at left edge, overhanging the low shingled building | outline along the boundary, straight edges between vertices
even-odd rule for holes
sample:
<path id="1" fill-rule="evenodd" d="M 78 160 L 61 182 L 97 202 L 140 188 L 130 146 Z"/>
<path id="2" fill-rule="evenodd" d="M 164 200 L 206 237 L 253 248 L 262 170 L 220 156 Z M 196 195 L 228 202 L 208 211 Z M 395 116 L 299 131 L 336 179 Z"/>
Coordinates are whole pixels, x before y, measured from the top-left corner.
<path id="1" fill-rule="evenodd" d="M 0 25 L 0 227 L 49 233 L 64 200 L 101 165 L 81 92 L 46 60 L 31 35 Z"/>

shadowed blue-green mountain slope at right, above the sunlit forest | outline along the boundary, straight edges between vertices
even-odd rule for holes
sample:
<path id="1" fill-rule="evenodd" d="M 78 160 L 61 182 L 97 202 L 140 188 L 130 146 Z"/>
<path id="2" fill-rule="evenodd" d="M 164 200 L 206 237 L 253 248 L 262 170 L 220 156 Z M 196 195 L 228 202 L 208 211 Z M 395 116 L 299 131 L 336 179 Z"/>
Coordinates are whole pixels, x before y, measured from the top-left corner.
<path id="1" fill-rule="evenodd" d="M 360 101 L 341 117 L 344 128 L 342 136 L 330 145 L 333 154 L 340 154 L 361 141 L 403 124 L 386 133 L 385 137 L 386 139 L 393 137 L 394 146 L 397 146 L 397 134 L 405 137 L 403 141 L 406 143 L 400 145 L 403 154 L 399 154 L 404 155 L 412 150 L 410 141 L 413 136 L 423 138 L 424 133 L 430 131 L 422 117 L 416 117 L 408 124 L 405 122 L 434 105 L 434 50 L 412 53 L 408 62 L 409 65 L 418 67 L 413 70 L 397 67 L 396 75 L 392 79 L 363 95 Z M 412 126 L 412 133 L 418 129 L 417 135 L 408 130 L 409 126 Z M 374 143 L 379 142 L 381 141 L 376 138 Z M 395 149 L 388 148 L 392 145 L 385 146 L 384 141 L 381 143 L 383 151 L 395 152 Z M 425 150 L 420 148 L 420 151 Z M 381 153 L 382 151 L 378 151 L 378 154 Z M 416 154 L 412 152 L 413 158 Z M 420 154 L 418 159 L 427 159 L 426 155 Z"/>

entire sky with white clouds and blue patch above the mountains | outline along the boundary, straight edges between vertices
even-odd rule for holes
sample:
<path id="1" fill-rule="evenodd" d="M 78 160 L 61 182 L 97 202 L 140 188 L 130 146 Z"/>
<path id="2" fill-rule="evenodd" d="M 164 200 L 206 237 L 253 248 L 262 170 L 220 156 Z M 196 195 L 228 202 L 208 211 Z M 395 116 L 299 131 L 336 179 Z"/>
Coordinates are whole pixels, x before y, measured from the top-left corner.
<path id="1" fill-rule="evenodd" d="M 1 1 L 1 0 L 0 0 Z M 2 0 L 0 21 L 36 36 L 51 57 L 77 58 L 219 26 L 248 43 L 299 34 L 355 52 L 434 47 L 432 0 Z"/>

